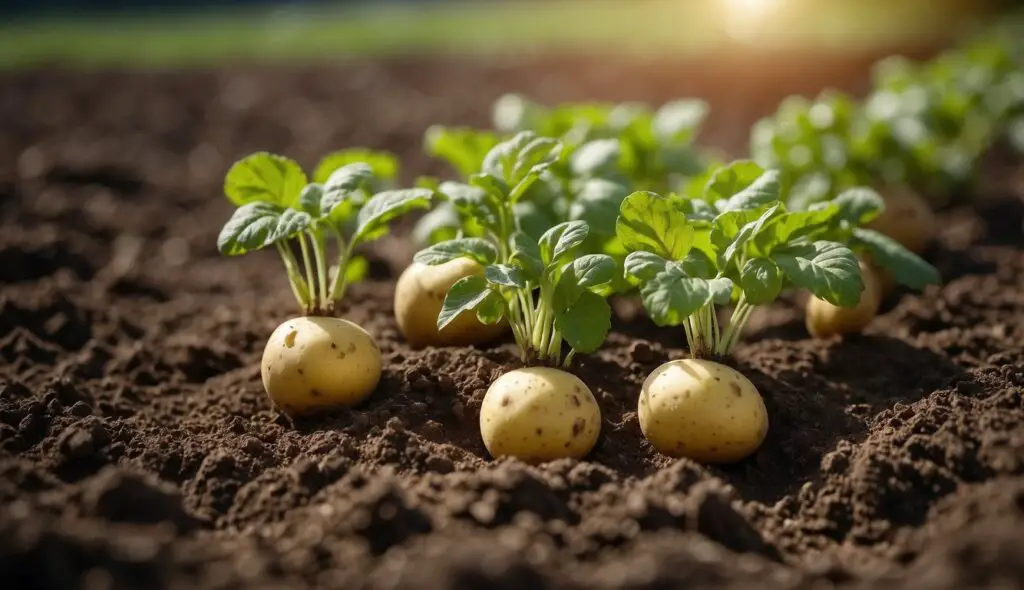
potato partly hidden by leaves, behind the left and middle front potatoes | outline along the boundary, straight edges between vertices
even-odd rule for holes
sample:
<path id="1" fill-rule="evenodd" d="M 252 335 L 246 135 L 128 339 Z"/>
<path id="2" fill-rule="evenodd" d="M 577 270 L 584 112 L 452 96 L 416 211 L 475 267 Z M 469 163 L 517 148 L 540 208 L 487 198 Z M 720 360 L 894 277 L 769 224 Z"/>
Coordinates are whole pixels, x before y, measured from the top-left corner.
<path id="1" fill-rule="evenodd" d="M 437 315 L 449 289 L 463 277 L 482 276 L 483 267 L 469 258 L 429 266 L 414 262 L 398 278 L 394 288 L 394 317 L 406 340 L 423 346 L 465 346 L 493 340 L 508 328 L 506 322 L 488 326 L 472 312 L 437 331 Z"/>

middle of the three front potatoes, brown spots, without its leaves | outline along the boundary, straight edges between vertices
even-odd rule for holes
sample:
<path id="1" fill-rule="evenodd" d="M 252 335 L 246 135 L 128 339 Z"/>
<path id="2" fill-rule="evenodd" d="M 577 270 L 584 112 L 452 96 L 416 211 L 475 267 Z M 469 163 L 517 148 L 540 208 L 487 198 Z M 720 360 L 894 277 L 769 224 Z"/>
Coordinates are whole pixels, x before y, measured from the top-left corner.
<path id="1" fill-rule="evenodd" d="M 601 431 L 601 410 L 579 377 L 530 367 L 499 377 L 483 396 L 480 434 L 493 457 L 543 463 L 590 453 Z"/>

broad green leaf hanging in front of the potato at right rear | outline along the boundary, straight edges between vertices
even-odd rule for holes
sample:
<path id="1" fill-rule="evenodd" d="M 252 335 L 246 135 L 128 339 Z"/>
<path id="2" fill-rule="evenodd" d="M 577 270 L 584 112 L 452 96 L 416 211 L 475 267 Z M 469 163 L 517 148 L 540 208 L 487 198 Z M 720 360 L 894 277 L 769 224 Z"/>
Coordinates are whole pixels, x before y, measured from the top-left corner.
<path id="1" fill-rule="evenodd" d="M 794 285 L 833 305 L 850 307 L 860 301 L 860 266 L 842 244 L 821 241 L 782 248 L 775 251 L 775 263 Z"/>

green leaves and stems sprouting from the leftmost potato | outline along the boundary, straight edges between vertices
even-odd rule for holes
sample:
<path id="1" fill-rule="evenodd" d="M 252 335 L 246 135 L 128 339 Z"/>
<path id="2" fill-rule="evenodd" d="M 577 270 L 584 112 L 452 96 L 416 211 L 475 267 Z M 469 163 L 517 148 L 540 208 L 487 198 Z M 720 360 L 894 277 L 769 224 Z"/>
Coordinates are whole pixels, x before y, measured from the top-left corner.
<path id="1" fill-rule="evenodd" d="M 328 155 L 312 181 L 283 156 L 260 152 L 243 158 L 224 179 L 224 195 L 238 208 L 217 247 L 228 256 L 275 247 L 303 311 L 330 312 L 346 286 L 366 273 L 355 248 L 386 235 L 395 218 L 430 206 L 430 189 L 392 188 L 397 173 L 393 156 L 361 149 Z"/>

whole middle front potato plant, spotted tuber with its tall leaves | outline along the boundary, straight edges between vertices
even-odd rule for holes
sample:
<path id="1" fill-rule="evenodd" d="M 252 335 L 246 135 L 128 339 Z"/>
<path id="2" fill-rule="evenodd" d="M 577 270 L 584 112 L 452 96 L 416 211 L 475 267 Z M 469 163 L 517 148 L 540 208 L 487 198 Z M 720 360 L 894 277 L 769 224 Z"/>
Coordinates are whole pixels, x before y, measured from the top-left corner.
<path id="1" fill-rule="evenodd" d="M 508 322 L 524 363 L 547 368 L 510 371 L 488 388 L 480 432 L 494 456 L 540 462 L 582 457 L 597 440 L 600 411 L 590 389 L 567 369 L 574 354 L 596 350 L 611 326 L 605 300 L 617 271 L 603 254 L 582 254 L 590 228 L 564 221 L 530 237 L 516 214 L 530 187 L 558 159 L 561 144 L 523 132 L 494 146 L 468 185 L 445 189 L 461 218 L 479 237 L 439 242 L 421 250 L 417 263 L 449 264 L 468 258 L 482 276 L 459 280 L 444 297 L 437 328 L 465 313 L 483 324 Z M 567 352 L 564 348 L 567 346 Z"/>

